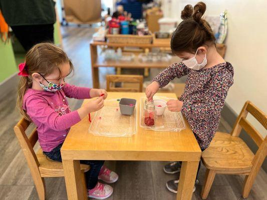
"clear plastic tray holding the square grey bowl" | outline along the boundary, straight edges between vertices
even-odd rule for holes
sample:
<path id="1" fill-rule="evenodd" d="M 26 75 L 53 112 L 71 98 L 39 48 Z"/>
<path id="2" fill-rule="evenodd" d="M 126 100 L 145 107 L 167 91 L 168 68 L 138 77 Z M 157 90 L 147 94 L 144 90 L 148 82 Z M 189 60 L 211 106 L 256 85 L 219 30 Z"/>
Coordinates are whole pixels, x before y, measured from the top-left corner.
<path id="1" fill-rule="evenodd" d="M 137 105 L 132 115 L 123 115 L 120 112 L 119 100 L 105 100 L 104 107 L 93 116 L 89 133 L 109 137 L 132 136 L 136 133 Z"/>

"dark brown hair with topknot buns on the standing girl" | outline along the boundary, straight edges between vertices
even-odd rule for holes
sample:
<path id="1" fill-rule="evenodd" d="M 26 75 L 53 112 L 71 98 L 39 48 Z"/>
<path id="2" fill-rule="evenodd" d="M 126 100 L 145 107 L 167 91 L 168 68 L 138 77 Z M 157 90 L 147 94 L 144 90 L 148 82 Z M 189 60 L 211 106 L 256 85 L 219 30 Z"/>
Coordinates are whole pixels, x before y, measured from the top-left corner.
<path id="1" fill-rule="evenodd" d="M 206 4 L 198 2 L 194 7 L 186 5 L 181 12 L 183 21 L 177 26 L 171 38 L 173 53 L 195 53 L 199 46 L 215 45 L 215 36 L 209 23 L 202 18 Z"/>

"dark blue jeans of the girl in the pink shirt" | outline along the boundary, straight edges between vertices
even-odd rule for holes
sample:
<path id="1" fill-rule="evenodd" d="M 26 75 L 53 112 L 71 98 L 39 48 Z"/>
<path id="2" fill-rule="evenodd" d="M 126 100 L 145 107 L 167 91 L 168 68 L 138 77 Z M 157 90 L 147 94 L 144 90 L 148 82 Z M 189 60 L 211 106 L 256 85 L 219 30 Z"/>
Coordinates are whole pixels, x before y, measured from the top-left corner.
<path id="1" fill-rule="evenodd" d="M 60 149 L 63 143 L 55 147 L 53 150 L 49 152 L 43 151 L 43 153 L 48 156 L 50 159 L 55 161 L 62 162 Z M 98 174 L 100 172 L 101 167 L 104 164 L 103 160 L 80 160 L 82 164 L 90 165 L 90 170 L 85 172 L 86 184 L 88 189 L 93 189 L 98 181 Z"/>

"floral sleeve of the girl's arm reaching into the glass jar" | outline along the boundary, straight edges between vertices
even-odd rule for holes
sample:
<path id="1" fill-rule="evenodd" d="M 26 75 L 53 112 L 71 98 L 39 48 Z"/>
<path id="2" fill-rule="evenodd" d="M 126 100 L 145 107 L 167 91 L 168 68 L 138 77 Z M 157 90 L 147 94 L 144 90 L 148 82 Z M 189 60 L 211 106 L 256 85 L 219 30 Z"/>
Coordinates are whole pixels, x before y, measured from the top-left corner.
<path id="1" fill-rule="evenodd" d="M 156 81 L 159 84 L 159 87 L 164 87 L 175 77 L 180 78 L 188 74 L 189 71 L 190 69 L 182 62 L 174 63 L 161 71 L 156 77 L 154 77 L 153 81 Z"/>

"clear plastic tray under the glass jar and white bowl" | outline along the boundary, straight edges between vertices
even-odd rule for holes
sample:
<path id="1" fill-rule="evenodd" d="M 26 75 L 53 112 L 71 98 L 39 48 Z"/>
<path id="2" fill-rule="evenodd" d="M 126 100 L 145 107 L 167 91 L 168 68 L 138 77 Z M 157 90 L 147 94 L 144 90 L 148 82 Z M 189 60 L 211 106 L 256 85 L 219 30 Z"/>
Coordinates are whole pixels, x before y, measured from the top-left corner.
<path id="1" fill-rule="evenodd" d="M 185 123 L 183 120 L 183 116 L 181 112 L 171 112 L 168 108 L 165 109 L 164 113 L 160 116 L 156 116 L 155 118 L 155 125 L 154 126 L 147 126 L 144 123 L 144 102 L 146 97 L 141 97 L 140 99 L 140 126 L 152 130 L 157 131 L 175 131 L 179 132 L 180 130 L 184 129 Z M 165 96 L 154 96 L 153 99 L 163 99 L 163 100 L 170 100 L 173 98 L 168 98 Z"/>

